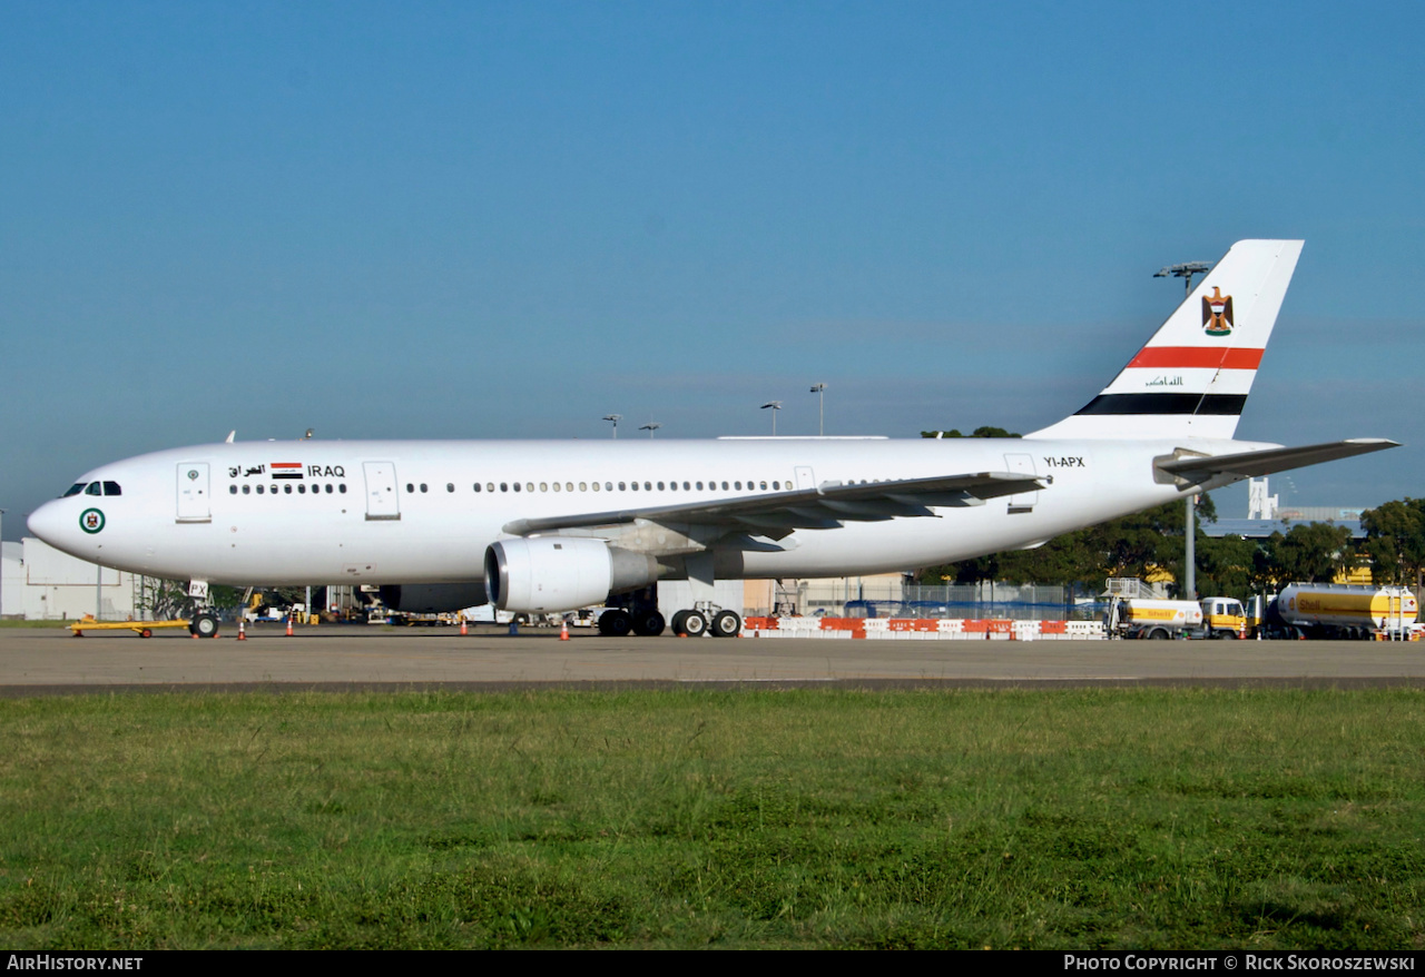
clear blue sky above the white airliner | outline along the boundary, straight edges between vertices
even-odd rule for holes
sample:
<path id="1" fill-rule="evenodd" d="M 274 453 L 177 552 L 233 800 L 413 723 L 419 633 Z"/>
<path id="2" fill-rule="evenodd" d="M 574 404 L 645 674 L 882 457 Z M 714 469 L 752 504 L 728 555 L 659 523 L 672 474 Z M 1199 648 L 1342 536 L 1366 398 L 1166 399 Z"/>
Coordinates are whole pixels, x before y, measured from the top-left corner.
<path id="1" fill-rule="evenodd" d="M 1406 447 L 1418 4 L 11 3 L 0 507 L 296 437 L 1032 430 L 1307 246 L 1238 434 Z M 1285 486 L 1281 486 L 1285 489 Z M 1245 493 L 1220 496 L 1226 516 Z"/>

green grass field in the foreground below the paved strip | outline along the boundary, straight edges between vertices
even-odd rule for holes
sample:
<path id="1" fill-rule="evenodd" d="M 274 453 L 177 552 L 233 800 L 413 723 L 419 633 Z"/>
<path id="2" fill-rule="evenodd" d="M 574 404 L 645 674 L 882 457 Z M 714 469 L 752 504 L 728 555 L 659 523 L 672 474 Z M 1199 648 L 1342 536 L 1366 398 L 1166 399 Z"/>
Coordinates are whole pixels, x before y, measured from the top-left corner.
<path id="1" fill-rule="evenodd" d="M 1425 947 L 1425 692 L 0 702 L 0 941 Z"/>

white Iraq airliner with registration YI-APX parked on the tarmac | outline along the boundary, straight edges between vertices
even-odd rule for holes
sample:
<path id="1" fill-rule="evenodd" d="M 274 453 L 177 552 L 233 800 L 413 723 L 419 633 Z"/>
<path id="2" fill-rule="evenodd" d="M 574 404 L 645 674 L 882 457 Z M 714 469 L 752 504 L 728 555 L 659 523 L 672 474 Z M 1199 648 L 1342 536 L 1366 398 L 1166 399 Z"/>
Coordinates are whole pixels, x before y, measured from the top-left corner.
<path id="1" fill-rule="evenodd" d="M 1300 241 L 1240 241 L 1087 406 L 1023 439 L 251 442 L 84 474 L 30 531 L 107 567 L 234 585 L 382 584 L 400 608 L 601 604 L 688 580 L 836 577 L 1029 548 L 1187 494 L 1394 447 L 1233 434 Z M 201 615 L 201 634 L 217 620 Z M 647 602 L 606 634 L 658 634 Z"/>

